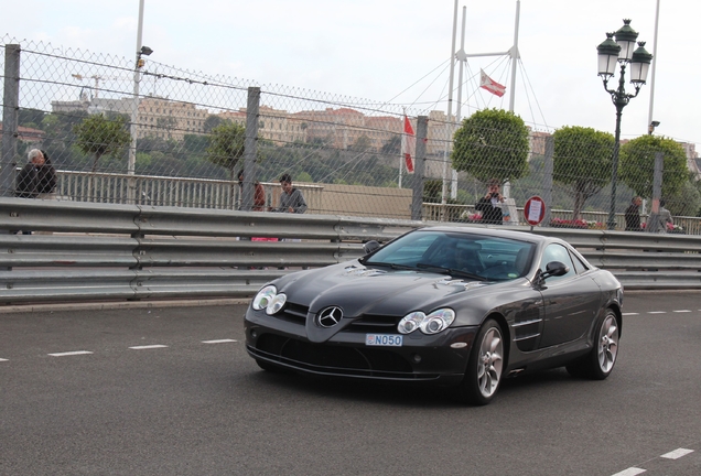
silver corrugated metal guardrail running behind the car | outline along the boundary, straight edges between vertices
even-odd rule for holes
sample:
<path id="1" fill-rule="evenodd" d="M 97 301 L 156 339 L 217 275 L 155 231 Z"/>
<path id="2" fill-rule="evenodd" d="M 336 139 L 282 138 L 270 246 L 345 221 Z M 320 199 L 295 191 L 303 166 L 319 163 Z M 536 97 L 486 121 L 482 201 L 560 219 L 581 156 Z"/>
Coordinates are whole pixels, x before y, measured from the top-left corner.
<path id="1" fill-rule="evenodd" d="M 279 268 L 346 261 L 363 241 L 425 225 L 438 223 L 0 198 L 0 303 L 247 298 L 289 272 Z M 34 234 L 13 234 L 23 229 Z M 569 241 L 626 289 L 701 289 L 701 237 L 532 231 Z"/>

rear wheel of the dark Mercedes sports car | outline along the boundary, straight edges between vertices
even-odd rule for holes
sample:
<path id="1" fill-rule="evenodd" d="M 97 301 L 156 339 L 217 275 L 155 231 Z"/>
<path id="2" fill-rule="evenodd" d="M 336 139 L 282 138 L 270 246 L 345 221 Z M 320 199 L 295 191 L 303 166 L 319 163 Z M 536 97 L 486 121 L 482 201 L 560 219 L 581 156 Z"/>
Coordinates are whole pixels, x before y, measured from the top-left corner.
<path id="1" fill-rule="evenodd" d="M 568 372 L 572 377 L 604 380 L 616 365 L 619 336 L 616 313 L 612 309 L 607 309 L 604 317 L 596 324 L 594 347 L 583 358 L 569 364 L 565 367 Z"/>

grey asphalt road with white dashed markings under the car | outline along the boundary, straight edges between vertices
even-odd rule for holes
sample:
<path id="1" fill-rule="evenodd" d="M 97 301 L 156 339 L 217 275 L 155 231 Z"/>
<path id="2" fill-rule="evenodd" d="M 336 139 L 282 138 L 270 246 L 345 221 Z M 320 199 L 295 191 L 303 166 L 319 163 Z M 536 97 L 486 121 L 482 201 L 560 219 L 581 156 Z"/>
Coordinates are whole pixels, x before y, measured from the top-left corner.
<path id="1" fill-rule="evenodd" d="M 699 293 L 628 293 L 607 380 L 482 408 L 263 372 L 244 309 L 0 314 L 0 475 L 701 474 Z"/>

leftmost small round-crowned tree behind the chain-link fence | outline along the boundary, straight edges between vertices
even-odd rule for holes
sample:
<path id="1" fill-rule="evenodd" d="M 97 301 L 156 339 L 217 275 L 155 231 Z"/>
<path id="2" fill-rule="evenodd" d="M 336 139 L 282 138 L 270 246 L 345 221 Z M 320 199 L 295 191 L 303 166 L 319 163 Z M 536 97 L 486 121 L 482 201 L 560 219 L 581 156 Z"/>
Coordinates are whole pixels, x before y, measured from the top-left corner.
<path id="1" fill-rule="evenodd" d="M 131 141 L 123 116 L 108 119 L 103 115 L 93 115 L 73 127 L 75 144 L 85 154 L 94 155 L 93 172 L 103 155 L 117 156 Z"/>

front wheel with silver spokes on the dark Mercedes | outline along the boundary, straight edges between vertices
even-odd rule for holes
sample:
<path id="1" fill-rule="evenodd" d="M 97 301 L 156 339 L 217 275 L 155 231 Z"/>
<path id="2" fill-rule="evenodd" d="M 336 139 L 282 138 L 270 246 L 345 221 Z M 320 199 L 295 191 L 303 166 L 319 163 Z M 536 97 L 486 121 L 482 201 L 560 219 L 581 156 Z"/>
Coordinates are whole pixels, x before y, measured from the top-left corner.
<path id="1" fill-rule="evenodd" d="M 496 321 L 488 318 L 475 336 L 459 397 L 465 403 L 485 405 L 494 399 L 504 371 L 504 336 Z"/>

